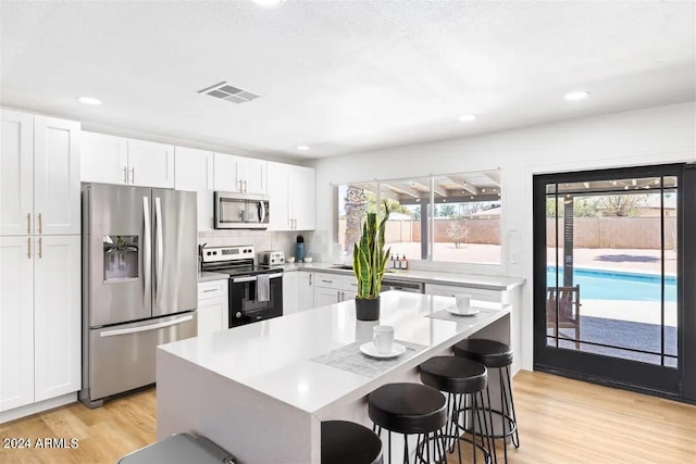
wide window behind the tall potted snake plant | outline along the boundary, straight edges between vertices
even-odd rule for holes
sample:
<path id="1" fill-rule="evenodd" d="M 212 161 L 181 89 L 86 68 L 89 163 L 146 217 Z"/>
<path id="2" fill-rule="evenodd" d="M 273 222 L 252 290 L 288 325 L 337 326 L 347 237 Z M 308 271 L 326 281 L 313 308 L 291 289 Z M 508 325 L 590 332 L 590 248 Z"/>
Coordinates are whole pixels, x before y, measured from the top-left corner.
<path id="1" fill-rule="evenodd" d="M 340 185 L 336 241 L 349 254 L 365 213 L 380 204 L 384 214 L 386 202 L 395 258 L 500 264 L 500 177 L 493 171 Z"/>

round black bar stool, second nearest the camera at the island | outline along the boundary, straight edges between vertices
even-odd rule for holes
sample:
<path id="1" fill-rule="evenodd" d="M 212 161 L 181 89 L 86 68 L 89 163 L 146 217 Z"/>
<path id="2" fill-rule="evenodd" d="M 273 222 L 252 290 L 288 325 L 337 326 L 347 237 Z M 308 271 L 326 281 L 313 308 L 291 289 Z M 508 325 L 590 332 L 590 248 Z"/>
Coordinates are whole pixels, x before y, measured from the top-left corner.
<path id="1" fill-rule="evenodd" d="M 444 460 L 445 442 L 442 428 L 447 423 L 447 409 L 445 397 L 437 389 L 421 384 L 383 385 L 368 397 L 368 414 L 380 435 L 383 428 L 389 432 L 389 464 L 393 431 L 403 435 L 403 463 L 409 463 L 408 436 L 413 434 L 418 434 L 417 462 L 428 463 L 431 441 L 433 452 L 430 462 Z"/>

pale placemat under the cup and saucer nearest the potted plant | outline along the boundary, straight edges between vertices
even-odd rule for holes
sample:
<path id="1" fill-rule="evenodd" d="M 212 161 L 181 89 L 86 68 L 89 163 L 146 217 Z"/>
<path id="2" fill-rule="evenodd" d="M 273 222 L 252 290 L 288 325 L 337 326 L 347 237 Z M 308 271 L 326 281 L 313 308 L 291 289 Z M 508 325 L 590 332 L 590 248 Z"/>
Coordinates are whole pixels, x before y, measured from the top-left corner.
<path id="1" fill-rule="evenodd" d="M 350 344 L 346 344 L 345 347 L 332 350 L 328 353 L 312 358 L 311 361 L 373 378 L 386 371 L 389 371 L 391 367 L 398 366 L 403 361 L 415 355 L 419 351 L 425 349 L 425 346 L 423 344 L 411 343 L 403 340 L 394 340 L 395 343 L 405 346 L 406 352 L 396 358 L 380 360 L 370 358 L 360 351 L 360 346 L 368 341 L 371 340 L 355 341 Z"/>

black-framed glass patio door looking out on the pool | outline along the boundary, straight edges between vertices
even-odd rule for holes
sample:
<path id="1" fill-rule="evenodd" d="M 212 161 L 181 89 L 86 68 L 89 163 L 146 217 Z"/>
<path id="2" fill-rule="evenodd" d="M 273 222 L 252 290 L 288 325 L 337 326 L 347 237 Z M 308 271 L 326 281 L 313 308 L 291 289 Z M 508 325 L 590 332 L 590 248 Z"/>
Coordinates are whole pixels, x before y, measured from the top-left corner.
<path id="1" fill-rule="evenodd" d="M 694 297 L 683 291 L 693 273 L 684 237 L 694 221 L 684 213 L 693 191 L 685 173 L 666 165 L 535 176 L 535 369 L 687 396 L 694 316 L 684 309 L 693 312 L 685 297 Z"/>

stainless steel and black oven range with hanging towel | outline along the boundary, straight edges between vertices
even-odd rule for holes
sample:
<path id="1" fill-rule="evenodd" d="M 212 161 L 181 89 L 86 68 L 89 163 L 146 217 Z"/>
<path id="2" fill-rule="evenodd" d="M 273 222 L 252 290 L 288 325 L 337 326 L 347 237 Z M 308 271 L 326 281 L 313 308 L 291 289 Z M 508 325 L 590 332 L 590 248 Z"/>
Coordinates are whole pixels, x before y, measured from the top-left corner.
<path id="1" fill-rule="evenodd" d="M 229 275 L 229 327 L 283 315 L 283 269 L 254 264 L 251 246 L 206 247 L 203 271 Z"/>

